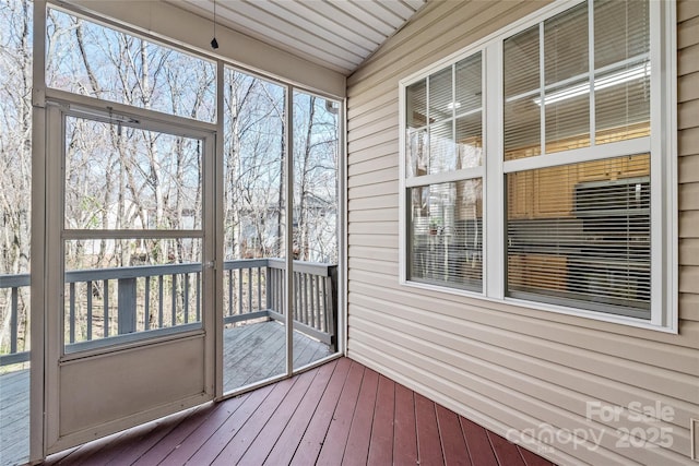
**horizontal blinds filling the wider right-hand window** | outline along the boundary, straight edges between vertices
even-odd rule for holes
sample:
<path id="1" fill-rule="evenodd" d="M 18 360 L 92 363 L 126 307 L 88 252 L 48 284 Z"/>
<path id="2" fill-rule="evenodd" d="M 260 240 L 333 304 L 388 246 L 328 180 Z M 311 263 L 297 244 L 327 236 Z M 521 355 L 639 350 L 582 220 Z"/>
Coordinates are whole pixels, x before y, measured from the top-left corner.
<path id="1" fill-rule="evenodd" d="M 650 154 L 624 145 L 650 134 L 648 10 L 583 2 L 503 41 L 507 296 L 651 318 Z"/>

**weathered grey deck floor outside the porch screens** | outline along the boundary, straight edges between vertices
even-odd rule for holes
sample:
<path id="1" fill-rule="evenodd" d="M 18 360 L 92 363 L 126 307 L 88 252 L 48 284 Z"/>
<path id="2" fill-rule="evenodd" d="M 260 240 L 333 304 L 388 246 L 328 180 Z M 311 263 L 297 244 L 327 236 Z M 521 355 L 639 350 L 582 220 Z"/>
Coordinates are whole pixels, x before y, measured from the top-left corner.
<path id="1" fill-rule="evenodd" d="M 224 392 L 281 374 L 285 369 L 284 326 L 261 322 L 224 331 Z M 294 333 L 294 368 L 331 354 L 328 345 Z M 0 466 L 28 455 L 29 371 L 0 375 Z"/>

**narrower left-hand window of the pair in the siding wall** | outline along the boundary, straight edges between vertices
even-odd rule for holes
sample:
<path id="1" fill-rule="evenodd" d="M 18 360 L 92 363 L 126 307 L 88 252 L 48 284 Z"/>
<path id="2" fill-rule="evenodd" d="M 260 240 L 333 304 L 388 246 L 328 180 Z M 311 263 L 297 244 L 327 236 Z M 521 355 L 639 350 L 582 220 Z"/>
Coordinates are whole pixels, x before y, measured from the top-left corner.
<path id="1" fill-rule="evenodd" d="M 482 87 L 477 52 L 406 88 L 411 280 L 482 289 Z"/>

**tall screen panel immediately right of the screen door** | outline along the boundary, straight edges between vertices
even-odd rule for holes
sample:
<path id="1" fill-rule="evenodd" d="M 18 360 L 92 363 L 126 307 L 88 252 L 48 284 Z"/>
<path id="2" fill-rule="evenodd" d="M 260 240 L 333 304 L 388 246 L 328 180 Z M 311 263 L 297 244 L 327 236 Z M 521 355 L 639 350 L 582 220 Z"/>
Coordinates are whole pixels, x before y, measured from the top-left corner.
<path id="1" fill-rule="evenodd" d="M 269 313 L 287 314 L 286 93 L 276 83 L 224 70 L 225 393 L 284 371 L 286 325 L 270 320 Z"/>

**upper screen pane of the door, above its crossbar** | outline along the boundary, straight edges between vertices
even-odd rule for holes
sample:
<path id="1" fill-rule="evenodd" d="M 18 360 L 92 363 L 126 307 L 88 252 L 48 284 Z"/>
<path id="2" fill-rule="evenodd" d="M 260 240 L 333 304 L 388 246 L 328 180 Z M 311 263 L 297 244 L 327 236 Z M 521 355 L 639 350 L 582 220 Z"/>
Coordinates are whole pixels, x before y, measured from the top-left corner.
<path id="1" fill-rule="evenodd" d="M 201 228 L 201 140 L 76 117 L 66 124 L 66 228 Z"/>

